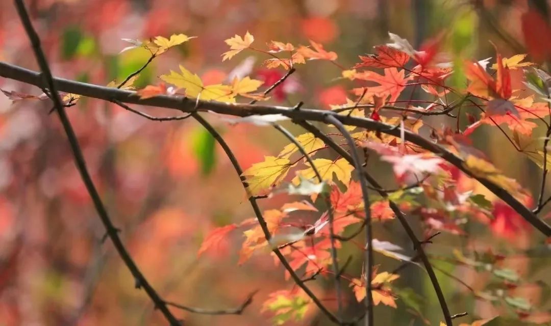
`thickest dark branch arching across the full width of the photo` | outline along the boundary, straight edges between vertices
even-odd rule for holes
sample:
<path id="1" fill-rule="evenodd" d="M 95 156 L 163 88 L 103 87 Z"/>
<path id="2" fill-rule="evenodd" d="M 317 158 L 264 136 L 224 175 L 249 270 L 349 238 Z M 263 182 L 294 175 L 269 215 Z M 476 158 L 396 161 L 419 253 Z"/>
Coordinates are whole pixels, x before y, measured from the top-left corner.
<path id="1" fill-rule="evenodd" d="M 0 62 L 0 76 L 5 78 L 19 80 L 27 84 L 42 86 L 42 80 L 40 73 L 36 71 L 28 70 L 25 68 L 17 67 L 8 63 Z M 111 87 L 104 87 L 92 84 L 85 84 L 83 82 L 66 80 L 61 78 L 54 78 L 54 84 L 57 89 L 64 92 L 75 93 L 83 96 L 99 98 L 106 101 L 117 100 L 124 103 L 141 104 L 145 106 L 156 106 L 163 108 L 172 108 L 184 112 L 194 112 L 196 108 L 196 101 L 181 97 L 181 96 L 156 96 L 153 98 L 141 99 L 136 92 L 119 90 Z M 289 117 L 295 120 L 312 120 L 312 121 L 324 121 L 326 115 L 331 115 L 335 119 L 341 121 L 345 125 L 354 125 L 360 128 L 368 130 L 379 131 L 384 134 L 392 136 L 400 136 L 401 130 L 395 128 L 393 125 L 381 123 L 369 118 L 347 117 L 335 112 L 328 112 L 327 110 L 316 109 L 294 109 L 292 107 L 280 107 L 280 106 L 267 106 L 259 104 L 231 104 L 222 102 L 211 101 L 199 101 L 200 109 L 203 111 L 211 110 L 216 113 L 230 114 L 237 117 L 247 117 L 249 115 L 266 115 L 266 114 L 282 114 L 285 117 Z M 446 150 L 446 148 L 434 143 L 429 139 L 415 134 L 414 132 L 404 130 L 405 140 L 424 148 L 430 152 L 433 152 L 445 161 L 455 165 L 462 172 L 478 180 L 485 187 L 488 188 L 494 195 L 503 200 L 507 205 L 511 206 L 515 211 L 520 214 L 528 223 L 532 224 L 534 228 L 538 229 L 545 236 L 551 236 L 551 226 L 539 219 L 529 208 L 524 206 L 514 196 L 507 192 L 503 187 L 494 183 L 493 181 L 485 178 L 482 175 L 474 175 L 471 170 L 466 167 L 462 158 L 456 156 L 452 152 Z"/>

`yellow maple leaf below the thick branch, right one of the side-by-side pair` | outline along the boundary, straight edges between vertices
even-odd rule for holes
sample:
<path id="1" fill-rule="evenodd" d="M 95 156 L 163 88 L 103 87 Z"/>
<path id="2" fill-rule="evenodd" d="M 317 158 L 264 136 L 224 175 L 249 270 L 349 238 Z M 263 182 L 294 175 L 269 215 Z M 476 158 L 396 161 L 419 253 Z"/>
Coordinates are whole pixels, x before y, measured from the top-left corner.
<path id="1" fill-rule="evenodd" d="M 334 162 L 330 159 L 318 158 L 312 162 L 320 173 L 321 178 L 327 181 L 328 184 L 333 184 L 333 173 L 338 180 L 341 180 L 343 184 L 348 185 L 348 183 L 350 182 L 350 176 L 354 167 L 350 165 L 350 163 L 348 163 L 348 161 L 344 158 L 337 159 L 337 161 Z M 310 164 L 306 163 L 306 165 Z M 312 167 L 298 171 L 292 181 L 293 184 L 298 185 L 300 183 L 299 175 L 301 175 L 302 178 L 305 179 L 314 179 L 316 183 L 318 183 L 319 181 L 317 180 L 316 173 L 314 172 L 314 169 L 312 169 Z"/>

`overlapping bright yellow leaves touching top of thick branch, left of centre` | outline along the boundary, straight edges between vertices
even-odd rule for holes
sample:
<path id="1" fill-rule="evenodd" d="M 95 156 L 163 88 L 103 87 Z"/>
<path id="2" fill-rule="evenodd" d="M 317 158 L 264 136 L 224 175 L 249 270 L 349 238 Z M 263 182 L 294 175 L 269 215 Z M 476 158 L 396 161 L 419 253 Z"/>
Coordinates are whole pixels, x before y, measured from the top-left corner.
<path id="1" fill-rule="evenodd" d="M 201 100 L 215 100 L 220 102 L 235 102 L 235 96 L 231 92 L 231 87 L 227 85 L 208 85 L 204 86 L 203 81 L 197 74 L 191 73 L 189 70 L 180 65 L 181 74 L 170 70 L 170 74 L 161 75 L 160 79 L 169 84 L 186 89 L 187 97 L 201 96 Z"/>

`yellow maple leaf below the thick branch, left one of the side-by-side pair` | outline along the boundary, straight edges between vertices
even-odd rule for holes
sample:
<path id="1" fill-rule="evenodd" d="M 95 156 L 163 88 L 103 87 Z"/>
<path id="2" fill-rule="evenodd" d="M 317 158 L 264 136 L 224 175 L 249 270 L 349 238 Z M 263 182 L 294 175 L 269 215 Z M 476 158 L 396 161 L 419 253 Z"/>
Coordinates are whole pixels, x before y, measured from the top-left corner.
<path id="1" fill-rule="evenodd" d="M 252 164 L 242 175 L 247 177 L 247 192 L 257 196 L 272 186 L 277 186 L 283 181 L 289 168 L 290 161 L 287 158 L 265 156 L 264 162 Z"/>

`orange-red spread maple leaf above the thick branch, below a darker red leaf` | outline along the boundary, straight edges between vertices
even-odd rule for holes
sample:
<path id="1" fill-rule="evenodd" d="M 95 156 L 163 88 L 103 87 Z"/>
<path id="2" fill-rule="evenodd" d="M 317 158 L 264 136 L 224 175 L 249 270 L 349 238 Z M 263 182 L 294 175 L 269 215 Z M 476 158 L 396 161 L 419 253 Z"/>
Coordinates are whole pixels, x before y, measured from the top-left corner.
<path id="1" fill-rule="evenodd" d="M 405 77 L 404 70 L 398 71 L 396 68 L 385 68 L 384 75 L 379 75 L 375 71 L 366 71 L 365 74 L 358 76 L 358 79 L 380 84 L 380 86 L 368 87 L 368 92 L 383 98 L 390 95 L 390 102 L 395 102 L 400 93 L 406 88 L 409 77 Z M 356 91 L 356 94 L 358 93 L 359 91 Z"/>

